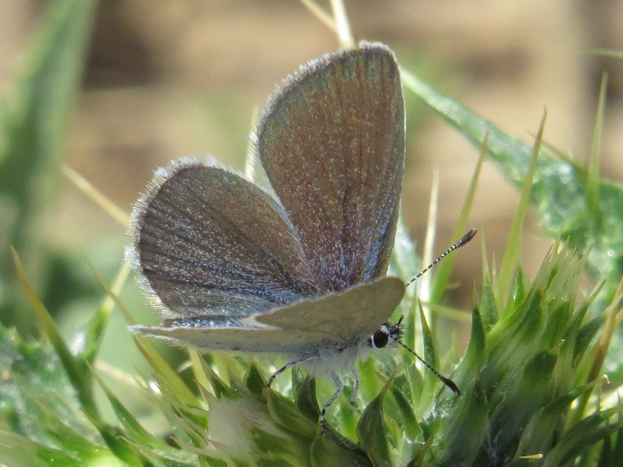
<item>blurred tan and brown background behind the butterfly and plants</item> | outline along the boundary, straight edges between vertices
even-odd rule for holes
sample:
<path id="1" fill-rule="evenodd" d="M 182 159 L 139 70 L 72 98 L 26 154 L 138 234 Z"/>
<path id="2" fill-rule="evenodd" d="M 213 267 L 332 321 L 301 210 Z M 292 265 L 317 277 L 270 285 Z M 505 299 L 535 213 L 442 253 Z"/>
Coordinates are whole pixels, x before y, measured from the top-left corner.
<path id="1" fill-rule="evenodd" d="M 320 4 L 329 9 L 328 1 Z M 46 5 L 0 2 L 4 100 L 16 92 L 22 53 L 32 44 Z M 582 161 L 607 72 L 601 171 L 614 181 L 623 178 L 623 62 L 589 54 L 595 47 L 623 49 L 623 2 L 347 0 L 346 8 L 357 39 L 385 42 L 402 66 L 512 136 L 531 143 L 546 107 L 546 141 Z M 242 169 L 254 108 L 288 73 L 337 47 L 335 34 L 294 0 L 102 1 L 60 159 L 127 212 L 153 170 L 171 159 L 211 154 Z M 441 252 L 478 151 L 409 92 L 406 100 L 404 218 L 420 255 L 438 169 L 435 251 Z M 72 336 L 103 298 L 85 257 L 111 281 L 128 237 L 123 225 L 65 179 L 60 164 L 49 166 L 43 179 L 46 196 L 33 208 L 29 231 L 22 235 L 29 240 L 19 253 L 30 256 L 29 278 L 65 335 Z M 517 200 L 515 189 L 485 164 L 468 225 L 480 230 L 497 258 Z M 9 201 L 0 203 L 6 220 L 0 228 L 2 261 L 12 241 Z M 551 243 L 528 217 L 522 261 L 530 276 Z M 470 308 L 473 281 L 482 275 L 480 255 L 480 240 L 457 255 L 454 306 Z M 19 288 L 10 285 L 12 265 L 2 271 L 0 320 L 29 336 L 35 332 L 32 312 Z M 131 280 L 123 300 L 141 322 L 155 323 L 155 312 Z M 122 369 L 140 361 L 118 313 L 102 352 L 105 361 Z"/>

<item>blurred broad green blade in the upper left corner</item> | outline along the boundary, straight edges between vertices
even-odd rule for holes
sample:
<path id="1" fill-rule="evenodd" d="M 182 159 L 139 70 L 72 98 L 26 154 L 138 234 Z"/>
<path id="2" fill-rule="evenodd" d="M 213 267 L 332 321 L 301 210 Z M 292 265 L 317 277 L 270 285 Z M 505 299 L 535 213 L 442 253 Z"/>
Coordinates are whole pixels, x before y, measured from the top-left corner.
<path id="1" fill-rule="evenodd" d="M 47 4 L 25 54 L 16 90 L 0 110 L 0 192 L 18 207 L 11 235 L 16 247 L 31 241 L 22 234 L 36 212 L 34 201 L 42 200 L 45 190 L 45 184 L 32 179 L 59 166 L 96 6 L 94 0 Z"/>

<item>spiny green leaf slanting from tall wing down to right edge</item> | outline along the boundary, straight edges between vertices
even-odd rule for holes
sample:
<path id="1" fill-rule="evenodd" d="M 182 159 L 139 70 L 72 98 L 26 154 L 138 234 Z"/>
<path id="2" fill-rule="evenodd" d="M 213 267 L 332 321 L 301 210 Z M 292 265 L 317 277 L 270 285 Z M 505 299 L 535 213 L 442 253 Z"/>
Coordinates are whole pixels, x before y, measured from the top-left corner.
<path id="1" fill-rule="evenodd" d="M 523 186 L 533 148 L 504 133 L 491 121 L 438 92 L 404 68 L 401 68 L 401 78 L 406 90 L 424 101 L 475 146 L 480 146 L 488 134 L 488 157 L 497 163 L 506 180 L 518 188 Z M 619 281 L 619 265 L 623 262 L 623 237 L 620 235 L 623 231 L 623 188 L 619 184 L 599 180 L 598 204 L 607 223 L 601 235 L 594 238 L 587 231 L 587 225 L 592 220 L 586 209 L 587 173 L 583 167 L 569 158 L 553 157 L 546 151 L 541 151 L 536 164 L 531 205 L 539 216 L 541 227 L 553 237 L 568 238 L 574 248 L 586 251 L 592 246 L 588 257 L 592 274 L 607 278 L 600 300 L 611 300 Z"/>

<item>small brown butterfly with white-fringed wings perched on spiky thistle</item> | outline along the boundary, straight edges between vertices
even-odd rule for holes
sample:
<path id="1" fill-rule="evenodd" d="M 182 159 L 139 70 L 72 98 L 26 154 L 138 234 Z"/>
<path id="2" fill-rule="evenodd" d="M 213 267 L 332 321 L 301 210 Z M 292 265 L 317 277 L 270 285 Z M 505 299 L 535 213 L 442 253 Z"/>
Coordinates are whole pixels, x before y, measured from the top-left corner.
<path id="1" fill-rule="evenodd" d="M 292 356 L 269 385 L 288 367 L 331 361 L 337 390 L 323 417 L 343 389 L 340 370 L 402 334 L 389 317 L 406 284 L 386 276 L 405 159 L 393 52 L 361 42 L 300 67 L 269 98 L 252 141 L 269 190 L 214 159 L 155 172 L 132 214 L 128 257 L 163 319 L 129 329 Z"/>

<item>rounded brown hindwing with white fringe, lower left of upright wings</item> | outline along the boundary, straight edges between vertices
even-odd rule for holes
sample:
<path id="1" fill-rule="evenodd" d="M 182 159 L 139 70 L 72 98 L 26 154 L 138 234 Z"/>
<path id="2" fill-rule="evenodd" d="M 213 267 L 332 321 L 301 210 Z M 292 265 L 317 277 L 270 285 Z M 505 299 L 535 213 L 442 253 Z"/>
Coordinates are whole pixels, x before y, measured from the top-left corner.
<path id="1" fill-rule="evenodd" d="M 318 293 L 283 208 L 214 163 L 159 169 L 132 219 L 129 256 L 165 316 L 237 319 Z"/>

